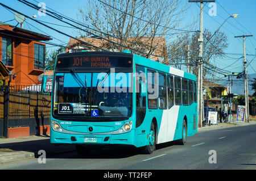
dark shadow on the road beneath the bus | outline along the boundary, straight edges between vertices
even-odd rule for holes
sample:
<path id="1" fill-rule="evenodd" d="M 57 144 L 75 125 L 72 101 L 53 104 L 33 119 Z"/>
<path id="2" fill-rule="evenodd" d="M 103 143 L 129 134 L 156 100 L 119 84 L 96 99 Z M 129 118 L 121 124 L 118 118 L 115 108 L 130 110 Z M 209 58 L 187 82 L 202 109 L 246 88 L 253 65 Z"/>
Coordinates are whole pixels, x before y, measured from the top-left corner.
<path id="1" fill-rule="evenodd" d="M 167 142 L 164 144 L 156 145 L 156 150 L 164 149 L 169 146 L 175 145 L 175 141 Z M 51 145 L 49 139 L 34 140 L 34 141 L 21 141 L 1 144 L 0 148 L 10 149 L 12 151 L 30 151 L 35 153 L 35 158 L 38 158 L 39 150 L 45 150 L 47 158 L 128 158 L 134 155 L 139 155 L 141 149 L 131 146 L 111 146 L 102 149 L 90 150 L 86 155 L 80 155 L 76 152 L 75 145 Z"/>

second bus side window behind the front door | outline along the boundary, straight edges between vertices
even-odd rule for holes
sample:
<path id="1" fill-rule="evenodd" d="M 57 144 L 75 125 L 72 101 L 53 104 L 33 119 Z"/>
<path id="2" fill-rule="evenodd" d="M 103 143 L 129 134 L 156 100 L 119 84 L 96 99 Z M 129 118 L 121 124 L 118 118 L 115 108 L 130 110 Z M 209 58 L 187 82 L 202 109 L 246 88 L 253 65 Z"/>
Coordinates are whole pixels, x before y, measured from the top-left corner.
<path id="1" fill-rule="evenodd" d="M 159 108 L 167 108 L 166 75 L 159 74 Z"/>

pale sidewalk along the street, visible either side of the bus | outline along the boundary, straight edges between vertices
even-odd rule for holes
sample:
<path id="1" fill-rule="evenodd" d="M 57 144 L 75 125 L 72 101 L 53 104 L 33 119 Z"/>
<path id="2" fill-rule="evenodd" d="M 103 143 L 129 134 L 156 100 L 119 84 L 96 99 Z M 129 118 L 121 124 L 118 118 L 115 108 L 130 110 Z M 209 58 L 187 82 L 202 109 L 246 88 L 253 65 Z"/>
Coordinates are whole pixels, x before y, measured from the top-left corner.
<path id="1" fill-rule="evenodd" d="M 208 131 L 211 129 L 221 129 L 228 127 L 238 127 L 245 125 L 256 124 L 256 121 L 250 121 L 250 123 L 238 123 L 234 122 L 219 123 L 218 125 L 210 125 L 202 128 L 197 128 L 198 132 Z M 55 155 L 59 153 L 65 153 L 68 151 L 75 151 L 74 145 L 51 145 L 49 142 L 49 136 L 28 136 L 20 138 L 0 138 L 0 167 L 1 163 L 7 163 L 17 161 L 20 159 L 38 158 L 38 151 L 45 150 L 46 155 Z"/>

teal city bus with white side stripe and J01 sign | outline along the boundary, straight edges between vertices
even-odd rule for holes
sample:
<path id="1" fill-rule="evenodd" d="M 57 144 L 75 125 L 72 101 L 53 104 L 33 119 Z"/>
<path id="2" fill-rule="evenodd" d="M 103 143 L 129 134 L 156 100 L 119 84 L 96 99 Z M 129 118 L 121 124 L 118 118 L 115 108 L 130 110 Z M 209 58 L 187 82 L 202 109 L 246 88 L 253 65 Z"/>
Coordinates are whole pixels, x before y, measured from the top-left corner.
<path id="1" fill-rule="evenodd" d="M 104 146 L 184 145 L 197 132 L 196 76 L 124 52 L 59 54 L 52 83 L 51 144 L 79 154 Z"/>

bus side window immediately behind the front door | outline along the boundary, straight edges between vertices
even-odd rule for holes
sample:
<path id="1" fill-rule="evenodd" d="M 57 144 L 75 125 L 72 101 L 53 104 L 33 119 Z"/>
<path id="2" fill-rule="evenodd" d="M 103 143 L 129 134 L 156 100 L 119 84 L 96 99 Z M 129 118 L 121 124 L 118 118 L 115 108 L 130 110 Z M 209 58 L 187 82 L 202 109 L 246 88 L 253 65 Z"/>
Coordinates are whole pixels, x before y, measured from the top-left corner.
<path id="1" fill-rule="evenodd" d="M 148 70 L 147 71 L 147 99 L 148 108 L 156 109 L 158 108 L 158 89 L 157 85 L 157 73 Z"/>

